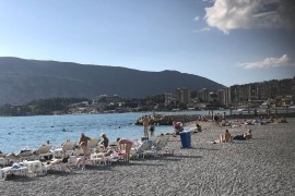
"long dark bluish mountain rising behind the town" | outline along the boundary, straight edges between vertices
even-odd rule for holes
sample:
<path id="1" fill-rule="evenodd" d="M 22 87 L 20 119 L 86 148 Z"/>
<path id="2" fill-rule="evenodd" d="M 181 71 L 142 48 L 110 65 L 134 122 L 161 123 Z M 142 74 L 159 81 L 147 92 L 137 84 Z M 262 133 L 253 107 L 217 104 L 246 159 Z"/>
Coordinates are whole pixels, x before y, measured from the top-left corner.
<path id="1" fill-rule="evenodd" d="M 177 71 L 145 72 L 119 66 L 0 58 L 0 105 L 34 99 L 119 95 L 145 97 L 165 90 L 223 88 L 205 77 Z"/>

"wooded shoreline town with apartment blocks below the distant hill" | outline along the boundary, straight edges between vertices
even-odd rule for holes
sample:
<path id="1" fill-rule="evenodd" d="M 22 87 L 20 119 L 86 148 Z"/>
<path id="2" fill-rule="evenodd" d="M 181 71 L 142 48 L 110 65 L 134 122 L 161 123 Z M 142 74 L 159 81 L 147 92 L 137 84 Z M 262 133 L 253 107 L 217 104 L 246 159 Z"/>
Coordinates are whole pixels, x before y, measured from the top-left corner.
<path id="1" fill-rule="evenodd" d="M 99 95 L 83 98 L 51 98 L 34 100 L 25 106 L 5 105 L 1 115 L 105 113 L 138 111 L 223 110 L 243 113 L 295 112 L 295 77 L 261 83 L 234 85 L 216 91 L 204 88 L 193 91 L 187 87 L 169 89 L 146 98 L 123 98 Z M 232 113 L 231 113 L 232 114 Z"/>

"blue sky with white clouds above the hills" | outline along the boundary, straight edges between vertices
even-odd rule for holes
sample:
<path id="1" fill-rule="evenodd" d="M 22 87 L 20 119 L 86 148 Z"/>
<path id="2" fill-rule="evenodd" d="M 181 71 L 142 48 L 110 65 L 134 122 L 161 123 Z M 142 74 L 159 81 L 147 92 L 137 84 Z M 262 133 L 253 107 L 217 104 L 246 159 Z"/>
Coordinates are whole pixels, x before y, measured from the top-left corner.
<path id="1" fill-rule="evenodd" d="M 295 76 L 294 0 L 0 0 L 0 57 L 175 70 L 225 86 Z"/>

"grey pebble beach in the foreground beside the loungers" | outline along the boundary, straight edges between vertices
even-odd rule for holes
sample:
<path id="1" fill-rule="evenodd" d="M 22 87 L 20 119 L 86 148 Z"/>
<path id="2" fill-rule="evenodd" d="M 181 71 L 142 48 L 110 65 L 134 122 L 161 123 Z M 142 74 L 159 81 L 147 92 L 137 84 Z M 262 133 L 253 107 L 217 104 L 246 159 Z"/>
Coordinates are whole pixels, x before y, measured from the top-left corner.
<path id="1" fill-rule="evenodd" d="M 10 176 L 0 182 L 0 195 L 294 195 L 295 119 L 288 121 L 248 126 L 253 138 L 239 144 L 212 144 L 225 127 L 205 124 L 191 135 L 190 149 L 180 149 L 179 136 L 170 137 L 174 156 Z M 236 135 L 247 127 L 228 130 Z"/>

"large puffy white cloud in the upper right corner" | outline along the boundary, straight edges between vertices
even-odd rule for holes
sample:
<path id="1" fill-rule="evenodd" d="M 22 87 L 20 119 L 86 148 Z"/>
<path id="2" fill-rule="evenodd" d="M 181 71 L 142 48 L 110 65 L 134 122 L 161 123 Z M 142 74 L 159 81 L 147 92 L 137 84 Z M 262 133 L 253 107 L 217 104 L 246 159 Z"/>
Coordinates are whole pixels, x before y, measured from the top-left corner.
<path id="1" fill-rule="evenodd" d="M 295 1 L 215 0 L 212 7 L 205 8 L 204 20 L 225 34 L 236 28 L 295 29 Z"/>

